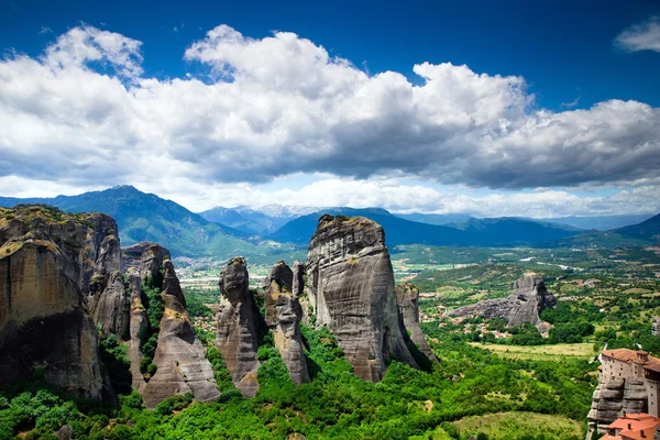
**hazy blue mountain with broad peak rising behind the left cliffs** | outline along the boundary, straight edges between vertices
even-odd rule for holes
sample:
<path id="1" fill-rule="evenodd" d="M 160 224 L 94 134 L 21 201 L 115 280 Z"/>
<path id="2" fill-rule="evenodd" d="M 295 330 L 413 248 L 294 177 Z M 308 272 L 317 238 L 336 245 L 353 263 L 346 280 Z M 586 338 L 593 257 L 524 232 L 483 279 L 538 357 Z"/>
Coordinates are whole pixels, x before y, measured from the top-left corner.
<path id="1" fill-rule="evenodd" d="M 267 248 L 248 241 L 249 234 L 212 223 L 183 206 L 132 186 L 54 198 L 0 198 L 0 206 L 47 204 L 68 212 L 103 212 L 112 216 L 120 229 L 122 245 L 154 241 L 175 255 L 233 256 L 261 255 Z"/>

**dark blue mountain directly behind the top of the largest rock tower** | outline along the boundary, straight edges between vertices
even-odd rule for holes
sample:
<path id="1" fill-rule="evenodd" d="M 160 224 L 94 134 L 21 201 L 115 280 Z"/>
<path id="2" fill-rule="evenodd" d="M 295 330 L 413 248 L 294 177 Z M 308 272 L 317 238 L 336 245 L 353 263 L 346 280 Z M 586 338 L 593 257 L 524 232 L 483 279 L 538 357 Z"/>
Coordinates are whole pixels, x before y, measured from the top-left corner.
<path id="1" fill-rule="evenodd" d="M 307 244 L 316 230 L 318 219 L 326 212 L 334 216 L 362 216 L 381 223 L 385 229 L 386 243 L 391 246 L 414 243 L 450 246 L 534 244 L 578 233 L 570 227 L 515 218 L 470 219 L 449 227 L 405 220 L 380 208 L 331 208 L 292 220 L 267 237 L 279 242 Z"/>

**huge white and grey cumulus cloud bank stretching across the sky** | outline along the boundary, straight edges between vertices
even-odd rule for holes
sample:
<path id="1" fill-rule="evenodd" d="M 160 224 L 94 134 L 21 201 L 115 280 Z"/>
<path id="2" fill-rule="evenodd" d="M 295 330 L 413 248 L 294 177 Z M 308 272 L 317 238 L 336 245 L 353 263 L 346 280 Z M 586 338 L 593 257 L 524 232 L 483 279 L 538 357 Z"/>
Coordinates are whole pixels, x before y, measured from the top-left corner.
<path id="1" fill-rule="evenodd" d="M 251 38 L 227 25 L 184 58 L 209 77 L 146 77 L 139 41 L 81 25 L 40 57 L 0 61 L 0 179 L 250 195 L 280 176 L 324 173 L 366 188 L 355 205 L 384 194 L 370 187 L 378 176 L 517 190 L 639 186 L 660 167 L 660 110 L 638 101 L 552 112 L 519 76 L 420 63 L 414 85 L 293 33 Z M 306 190 L 342 191 L 337 182 Z M 369 205 L 413 206 L 425 189 L 411 188 Z"/>

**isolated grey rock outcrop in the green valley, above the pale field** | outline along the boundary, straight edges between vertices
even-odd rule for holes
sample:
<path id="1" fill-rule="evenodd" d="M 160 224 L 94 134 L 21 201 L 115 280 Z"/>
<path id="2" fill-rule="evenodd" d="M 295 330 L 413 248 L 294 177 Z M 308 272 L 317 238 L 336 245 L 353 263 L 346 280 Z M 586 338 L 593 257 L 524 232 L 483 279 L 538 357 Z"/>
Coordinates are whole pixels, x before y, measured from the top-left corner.
<path id="1" fill-rule="evenodd" d="M 539 314 L 546 307 L 554 307 L 557 300 L 546 289 L 543 278 L 537 274 L 524 274 L 514 283 L 514 293 L 506 298 L 488 299 L 482 302 L 460 307 L 447 312 L 449 316 L 483 316 L 507 320 L 508 327 L 532 323 L 539 330 L 546 330 Z"/>

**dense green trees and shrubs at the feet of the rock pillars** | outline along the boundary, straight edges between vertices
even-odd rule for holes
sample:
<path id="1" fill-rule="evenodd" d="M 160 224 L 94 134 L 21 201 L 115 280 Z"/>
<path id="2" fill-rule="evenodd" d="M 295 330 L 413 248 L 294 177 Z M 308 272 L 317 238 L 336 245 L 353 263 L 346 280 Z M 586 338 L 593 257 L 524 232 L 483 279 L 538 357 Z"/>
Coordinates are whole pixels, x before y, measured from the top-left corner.
<path id="1" fill-rule="evenodd" d="M 121 406 L 90 406 L 31 382 L 0 397 L 0 440 L 20 431 L 50 439 L 65 422 L 86 439 L 407 439 L 455 435 L 448 422 L 468 416 L 526 410 L 583 420 L 593 391 L 593 365 L 581 361 L 499 359 L 443 334 L 436 344 L 441 366 L 424 373 L 394 362 L 384 380 L 356 378 L 327 329 L 302 328 L 314 382 L 296 387 L 268 337 L 260 349 L 260 392 L 244 399 L 229 381 L 217 351 L 209 350 L 222 395 L 217 403 L 175 396 L 155 410 L 139 394 Z M 466 436 L 466 432 L 460 436 Z M 512 437 L 512 439 L 524 437 Z M 529 437 L 527 437 L 529 438 Z M 565 437 L 569 439 L 570 437 Z"/>

